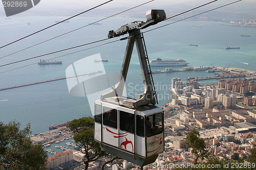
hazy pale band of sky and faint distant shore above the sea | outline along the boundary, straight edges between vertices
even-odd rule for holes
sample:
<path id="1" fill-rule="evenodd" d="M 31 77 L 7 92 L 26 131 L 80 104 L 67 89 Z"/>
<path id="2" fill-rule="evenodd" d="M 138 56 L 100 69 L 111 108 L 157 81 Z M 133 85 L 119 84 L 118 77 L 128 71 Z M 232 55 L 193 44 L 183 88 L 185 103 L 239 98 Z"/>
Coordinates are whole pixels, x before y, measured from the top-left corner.
<path id="1" fill-rule="evenodd" d="M 46 15 L 46 16 L 68 16 L 68 15 L 74 15 L 77 13 L 80 13 L 84 10 L 93 8 L 99 4 L 102 4 L 104 2 L 107 2 L 106 0 L 99 0 L 99 1 L 67 1 L 67 0 L 42 0 L 38 5 L 33 7 L 32 9 L 29 9 L 25 12 L 13 15 L 13 16 L 30 16 L 30 15 Z M 105 4 L 97 9 L 94 9 L 92 11 L 87 12 L 83 16 L 108 16 L 115 14 L 117 12 L 120 12 L 125 9 L 129 9 L 132 7 L 135 7 L 137 5 L 143 4 L 149 2 L 149 0 L 131 0 L 131 1 L 117 1 L 114 0 L 108 4 Z M 172 16 L 174 14 L 177 14 L 179 12 L 183 12 L 185 10 L 194 8 L 196 6 L 205 4 L 210 2 L 209 0 L 181 0 L 179 2 L 177 1 L 168 1 L 168 0 L 155 0 L 153 2 L 150 2 L 146 5 L 143 5 L 141 7 L 138 7 L 136 9 L 133 9 L 129 12 L 126 12 L 125 14 L 122 14 L 122 16 L 131 16 L 131 14 L 134 14 L 134 16 L 142 16 L 144 15 L 145 11 L 149 9 L 163 9 L 166 12 L 167 17 Z M 209 4 L 205 7 L 202 7 L 200 9 L 195 10 L 195 12 L 202 12 L 207 11 L 209 9 L 213 9 L 228 3 L 234 2 L 231 0 L 223 0 L 223 1 L 217 1 L 212 4 Z M 226 17 L 226 14 L 236 14 L 236 15 L 248 15 L 251 16 L 251 18 L 255 18 L 256 12 L 255 12 L 255 5 L 256 0 L 244 0 L 241 2 L 238 2 L 236 4 L 232 4 L 227 7 L 223 7 L 221 9 L 215 10 L 214 12 L 211 12 L 211 15 L 215 14 L 221 14 L 223 17 Z M 0 6 L 0 15 L 5 15 L 4 7 Z"/>

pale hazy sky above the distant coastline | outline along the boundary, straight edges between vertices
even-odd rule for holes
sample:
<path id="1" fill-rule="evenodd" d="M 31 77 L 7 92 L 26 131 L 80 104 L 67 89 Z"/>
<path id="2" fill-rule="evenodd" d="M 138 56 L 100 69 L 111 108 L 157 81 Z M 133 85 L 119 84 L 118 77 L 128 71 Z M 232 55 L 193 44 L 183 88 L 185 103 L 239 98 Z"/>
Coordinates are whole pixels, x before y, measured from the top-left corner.
<path id="1" fill-rule="evenodd" d="M 36 5 L 34 8 L 26 11 L 27 13 L 32 12 L 46 12 L 46 13 L 57 13 L 59 11 L 75 11 L 77 13 L 90 9 L 92 7 L 95 7 L 99 4 L 102 4 L 104 2 L 107 2 L 108 0 L 41 0 L 38 5 Z M 140 4 L 143 4 L 145 2 L 149 2 L 151 0 L 114 0 L 108 4 L 105 4 L 98 9 L 113 9 L 113 8 L 122 8 L 127 9 L 131 8 Z M 172 10 L 172 8 L 184 8 L 184 10 L 187 10 L 188 8 L 193 8 L 198 5 L 205 4 L 207 2 L 210 2 L 213 0 L 155 0 L 151 3 L 148 3 L 144 7 L 148 7 L 150 9 L 164 9 L 167 8 L 168 10 Z M 219 0 L 218 2 L 212 3 L 208 5 L 208 9 L 215 8 L 217 6 L 221 6 L 224 4 L 228 4 L 231 2 L 234 2 L 237 0 Z M 248 4 L 249 3 L 249 4 Z M 255 4 L 251 5 L 251 3 L 256 4 L 256 0 L 243 0 L 242 2 L 236 3 L 232 5 L 232 8 L 234 9 L 241 9 L 248 12 L 248 10 L 255 10 Z M 164 9 L 166 10 L 166 9 Z M 0 5 L 0 14 L 5 14 L 3 5 Z M 17 14 L 17 16 L 22 16 L 23 14 Z"/>

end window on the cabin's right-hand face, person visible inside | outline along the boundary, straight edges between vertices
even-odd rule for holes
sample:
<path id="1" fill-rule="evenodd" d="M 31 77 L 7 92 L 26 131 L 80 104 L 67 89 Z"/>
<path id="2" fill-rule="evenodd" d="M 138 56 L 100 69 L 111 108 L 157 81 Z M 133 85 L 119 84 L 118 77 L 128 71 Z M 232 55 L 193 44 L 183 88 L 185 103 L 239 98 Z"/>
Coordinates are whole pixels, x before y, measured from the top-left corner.
<path id="1" fill-rule="evenodd" d="M 163 132 L 162 119 L 162 113 L 157 113 L 146 117 L 147 137 Z"/>

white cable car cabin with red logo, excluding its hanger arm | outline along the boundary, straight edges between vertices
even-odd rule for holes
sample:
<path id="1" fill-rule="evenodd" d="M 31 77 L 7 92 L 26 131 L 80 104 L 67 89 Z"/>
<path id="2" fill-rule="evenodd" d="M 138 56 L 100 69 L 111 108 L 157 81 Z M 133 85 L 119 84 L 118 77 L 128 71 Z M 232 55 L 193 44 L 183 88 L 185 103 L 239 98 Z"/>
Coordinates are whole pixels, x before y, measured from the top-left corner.
<path id="1" fill-rule="evenodd" d="M 164 151 L 163 111 L 95 101 L 95 140 L 105 152 L 144 166 Z"/>

